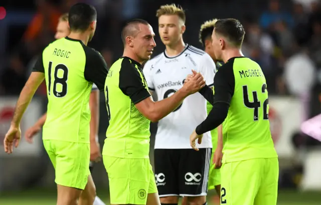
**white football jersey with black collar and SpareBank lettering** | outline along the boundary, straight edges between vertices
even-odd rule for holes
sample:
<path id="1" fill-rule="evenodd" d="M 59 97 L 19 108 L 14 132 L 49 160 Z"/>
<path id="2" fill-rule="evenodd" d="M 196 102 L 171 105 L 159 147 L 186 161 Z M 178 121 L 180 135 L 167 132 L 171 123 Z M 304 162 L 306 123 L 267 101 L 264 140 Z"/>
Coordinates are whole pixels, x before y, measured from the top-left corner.
<path id="1" fill-rule="evenodd" d="M 192 69 L 201 72 L 206 84 L 213 85 L 216 66 L 204 51 L 187 45 L 184 51 L 168 57 L 166 52 L 147 61 L 143 73 L 148 88 L 162 100 L 171 96 L 183 86 Z M 158 122 L 155 149 L 190 149 L 190 135 L 207 117 L 206 99 L 195 93 L 184 99 L 183 104 L 174 112 Z M 211 133 L 204 133 L 199 148 L 212 148 Z"/>

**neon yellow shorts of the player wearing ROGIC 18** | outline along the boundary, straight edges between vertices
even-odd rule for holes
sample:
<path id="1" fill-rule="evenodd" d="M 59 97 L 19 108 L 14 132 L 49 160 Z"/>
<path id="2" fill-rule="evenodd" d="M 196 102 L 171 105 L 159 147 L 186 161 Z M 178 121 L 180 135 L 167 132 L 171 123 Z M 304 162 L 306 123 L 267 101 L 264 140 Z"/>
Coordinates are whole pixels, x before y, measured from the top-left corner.
<path id="1" fill-rule="evenodd" d="M 55 167 L 55 182 L 59 185 L 84 189 L 90 162 L 90 144 L 43 140 L 45 149 Z"/>

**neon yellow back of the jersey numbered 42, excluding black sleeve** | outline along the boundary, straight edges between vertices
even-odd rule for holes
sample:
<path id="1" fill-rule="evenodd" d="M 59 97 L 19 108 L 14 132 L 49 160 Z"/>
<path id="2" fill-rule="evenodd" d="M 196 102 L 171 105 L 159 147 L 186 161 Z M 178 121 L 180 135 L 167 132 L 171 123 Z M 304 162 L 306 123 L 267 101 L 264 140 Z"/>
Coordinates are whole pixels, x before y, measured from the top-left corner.
<path id="1" fill-rule="evenodd" d="M 234 75 L 234 94 L 223 123 L 223 161 L 277 157 L 268 120 L 268 92 L 260 66 L 249 58 L 230 59 L 218 73 Z M 219 77 L 219 76 L 217 76 Z"/>

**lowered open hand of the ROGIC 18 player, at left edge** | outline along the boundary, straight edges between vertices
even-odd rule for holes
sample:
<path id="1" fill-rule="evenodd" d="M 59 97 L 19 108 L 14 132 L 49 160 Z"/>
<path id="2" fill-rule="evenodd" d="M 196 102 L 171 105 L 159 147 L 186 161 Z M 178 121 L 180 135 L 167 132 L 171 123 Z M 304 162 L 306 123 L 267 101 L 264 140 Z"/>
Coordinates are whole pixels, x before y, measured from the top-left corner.
<path id="1" fill-rule="evenodd" d="M 17 148 L 21 139 L 21 129 L 20 126 L 10 126 L 9 131 L 6 134 L 4 140 L 5 152 L 8 154 L 13 153 L 14 145 Z"/>

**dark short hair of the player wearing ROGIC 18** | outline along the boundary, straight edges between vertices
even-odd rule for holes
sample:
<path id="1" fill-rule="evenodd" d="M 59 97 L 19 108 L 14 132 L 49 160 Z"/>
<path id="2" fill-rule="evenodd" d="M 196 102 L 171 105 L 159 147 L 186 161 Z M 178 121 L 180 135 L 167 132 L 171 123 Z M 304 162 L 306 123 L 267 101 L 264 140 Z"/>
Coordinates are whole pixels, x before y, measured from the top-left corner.
<path id="1" fill-rule="evenodd" d="M 93 6 L 84 3 L 75 4 L 70 8 L 68 15 L 70 31 L 86 31 L 96 19 L 97 12 Z"/>

